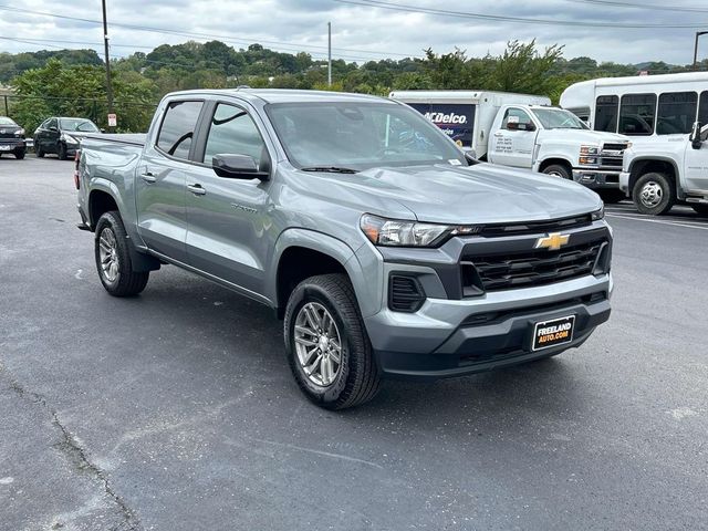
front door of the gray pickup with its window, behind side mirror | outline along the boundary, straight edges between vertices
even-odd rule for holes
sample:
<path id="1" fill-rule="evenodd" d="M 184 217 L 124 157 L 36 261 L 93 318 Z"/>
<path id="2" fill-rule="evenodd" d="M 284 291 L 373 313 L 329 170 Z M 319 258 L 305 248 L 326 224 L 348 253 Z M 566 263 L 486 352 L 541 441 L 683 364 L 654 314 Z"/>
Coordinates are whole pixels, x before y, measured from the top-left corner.
<path id="1" fill-rule="evenodd" d="M 195 158 L 201 164 L 187 180 L 189 264 L 262 293 L 271 181 L 219 177 L 211 159 L 217 154 L 248 155 L 267 171 L 271 157 L 263 135 L 248 108 L 219 101 L 209 104 L 199 138 Z"/>

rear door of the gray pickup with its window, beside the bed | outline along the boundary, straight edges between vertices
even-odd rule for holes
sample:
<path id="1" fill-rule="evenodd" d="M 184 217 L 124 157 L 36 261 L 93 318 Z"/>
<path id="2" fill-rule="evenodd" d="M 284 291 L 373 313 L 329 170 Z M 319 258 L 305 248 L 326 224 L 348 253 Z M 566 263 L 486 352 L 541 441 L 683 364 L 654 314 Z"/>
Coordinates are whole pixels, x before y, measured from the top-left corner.
<path id="1" fill-rule="evenodd" d="M 194 169 L 194 137 L 204 101 L 173 100 L 159 131 L 148 138 L 135 179 L 138 230 L 152 250 L 187 261 L 187 175 Z"/>

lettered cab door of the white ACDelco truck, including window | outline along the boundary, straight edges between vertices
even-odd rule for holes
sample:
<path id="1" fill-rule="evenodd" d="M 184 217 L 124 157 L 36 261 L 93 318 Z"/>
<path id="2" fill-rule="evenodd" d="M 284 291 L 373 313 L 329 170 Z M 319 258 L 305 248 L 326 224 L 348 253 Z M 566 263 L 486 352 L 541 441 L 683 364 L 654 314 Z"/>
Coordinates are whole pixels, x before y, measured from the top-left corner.
<path id="1" fill-rule="evenodd" d="M 529 128 L 533 131 L 528 131 Z M 538 134 L 529 113 L 523 108 L 508 107 L 499 131 L 493 133 L 489 159 L 504 166 L 531 168 Z"/>

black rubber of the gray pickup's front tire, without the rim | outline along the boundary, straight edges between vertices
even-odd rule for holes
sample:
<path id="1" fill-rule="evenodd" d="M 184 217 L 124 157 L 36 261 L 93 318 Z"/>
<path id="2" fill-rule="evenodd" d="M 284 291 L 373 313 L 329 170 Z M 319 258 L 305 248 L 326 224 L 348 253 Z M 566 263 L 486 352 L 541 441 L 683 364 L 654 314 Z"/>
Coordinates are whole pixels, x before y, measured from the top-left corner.
<path id="1" fill-rule="evenodd" d="M 308 303 L 324 306 L 340 335 L 341 361 L 333 382 L 316 385 L 305 374 L 295 350 L 295 321 Z M 310 400 L 326 409 L 344 409 L 371 400 L 381 375 L 364 329 L 352 283 L 345 274 L 310 277 L 293 290 L 284 320 L 285 352 L 298 385 Z"/>

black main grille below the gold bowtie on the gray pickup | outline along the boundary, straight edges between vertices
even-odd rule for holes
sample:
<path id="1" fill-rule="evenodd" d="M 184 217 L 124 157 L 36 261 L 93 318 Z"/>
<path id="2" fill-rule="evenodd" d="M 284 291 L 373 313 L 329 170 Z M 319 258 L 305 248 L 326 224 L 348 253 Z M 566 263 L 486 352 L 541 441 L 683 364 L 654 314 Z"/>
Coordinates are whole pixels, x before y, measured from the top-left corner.
<path id="1" fill-rule="evenodd" d="M 596 240 L 559 251 L 533 249 L 469 260 L 486 291 L 532 288 L 591 274 L 603 243 Z"/>

